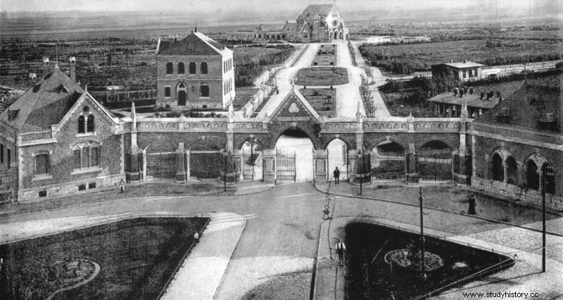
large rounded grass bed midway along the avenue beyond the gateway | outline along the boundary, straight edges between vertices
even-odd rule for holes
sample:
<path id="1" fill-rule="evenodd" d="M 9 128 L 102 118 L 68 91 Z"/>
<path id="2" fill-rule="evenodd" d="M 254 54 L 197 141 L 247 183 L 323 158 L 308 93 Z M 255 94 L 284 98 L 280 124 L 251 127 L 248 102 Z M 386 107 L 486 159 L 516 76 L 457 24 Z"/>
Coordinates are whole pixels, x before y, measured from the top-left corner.
<path id="1" fill-rule="evenodd" d="M 297 85 L 344 85 L 348 83 L 348 70 L 339 67 L 303 68 L 296 75 Z"/>

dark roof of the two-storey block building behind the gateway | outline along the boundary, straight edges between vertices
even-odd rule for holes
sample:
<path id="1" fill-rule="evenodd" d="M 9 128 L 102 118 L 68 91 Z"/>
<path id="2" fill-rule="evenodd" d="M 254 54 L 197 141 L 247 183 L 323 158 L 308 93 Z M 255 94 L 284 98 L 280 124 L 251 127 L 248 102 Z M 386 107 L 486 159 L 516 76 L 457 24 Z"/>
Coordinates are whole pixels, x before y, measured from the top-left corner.
<path id="1" fill-rule="evenodd" d="M 177 42 L 160 41 L 157 55 L 225 55 L 232 53 L 223 44 L 215 42 L 201 32 L 191 32 L 191 35 Z"/>

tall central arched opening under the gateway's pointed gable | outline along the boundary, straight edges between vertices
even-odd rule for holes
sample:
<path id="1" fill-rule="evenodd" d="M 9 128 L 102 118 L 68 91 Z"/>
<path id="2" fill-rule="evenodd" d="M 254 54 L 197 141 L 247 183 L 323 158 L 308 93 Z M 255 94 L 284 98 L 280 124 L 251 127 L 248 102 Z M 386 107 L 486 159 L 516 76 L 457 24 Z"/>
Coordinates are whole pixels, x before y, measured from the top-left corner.
<path id="1" fill-rule="evenodd" d="M 298 128 L 285 130 L 276 142 L 276 177 L 278 182 L 312 180 L 313 144 Z"/>

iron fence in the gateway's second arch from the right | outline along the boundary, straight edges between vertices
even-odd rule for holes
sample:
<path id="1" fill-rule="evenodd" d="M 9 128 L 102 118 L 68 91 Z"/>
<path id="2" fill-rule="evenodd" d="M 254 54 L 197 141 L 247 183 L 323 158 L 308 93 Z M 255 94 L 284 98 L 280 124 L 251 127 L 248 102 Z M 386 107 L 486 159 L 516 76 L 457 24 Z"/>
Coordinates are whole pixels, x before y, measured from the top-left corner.
<path id="1" fill-rule="evenodd" d="M 379 182 L 405 180 L 405 155 L 372 154 L 372 180 Z"/>

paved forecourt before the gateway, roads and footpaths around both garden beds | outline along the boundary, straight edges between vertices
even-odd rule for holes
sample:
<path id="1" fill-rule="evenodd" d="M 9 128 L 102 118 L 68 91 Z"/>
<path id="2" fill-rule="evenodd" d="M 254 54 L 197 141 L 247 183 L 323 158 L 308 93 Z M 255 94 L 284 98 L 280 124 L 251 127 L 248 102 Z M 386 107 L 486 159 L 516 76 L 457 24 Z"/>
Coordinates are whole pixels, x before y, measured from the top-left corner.
<path id="1" fill-rule="evenodd" d="M 61 207 L 44 211 L 33 212 L 45 208 L 41 203 L 28 204 L 30 212 L 24 214 L 13 208 L 3 211 L 1 241 L 81 228 L 122 215 L 210 215 L 201 241 L 177 271 L 165 299 L 344 299 L 341 287 L 346 267 L 337 266 L 331 251 L 336 237 L 343 237 L 344 225 L 378 222 L 419 230 L 418 187 L 372 184 L 358 196 L 359 187 L 348 184 L 240 184 L 229 185 L 227 195 L 217 183 L 206 186 L 217 193 L 210 195 L 208 190 L 196 192 L 197 185 L 163 183 L 151 189 L 129 185 L 125 194 L 112 189 L 92 195 L 99 198 L 97 201 L 71 196 L 61 199 Z M 192 195 L 167 194 L 179 188 Z M 327 190 L 332 195 L 330 220 L 324 219 L 322 212 Z M 560 296 L 560 215 L 548 214 L 548 271 L 541 273 L 540 211 L 478 197 L 477 208 L 482 211 L 466 215 L 460 213 L 467 206 L 460 198 L 472 189 L 424 185 L 423 191 L 428 235 L 492 249 L 515 259 L 512 268 L 452 287 L 439 299 L 463 299 L 463 292 L 499 291 L 538 292 L 539 299 Z M 149 193 L 153 195 L 146 195 Z M 505 211 L 508 217 L 495 220 L 487 211 Z"/>

